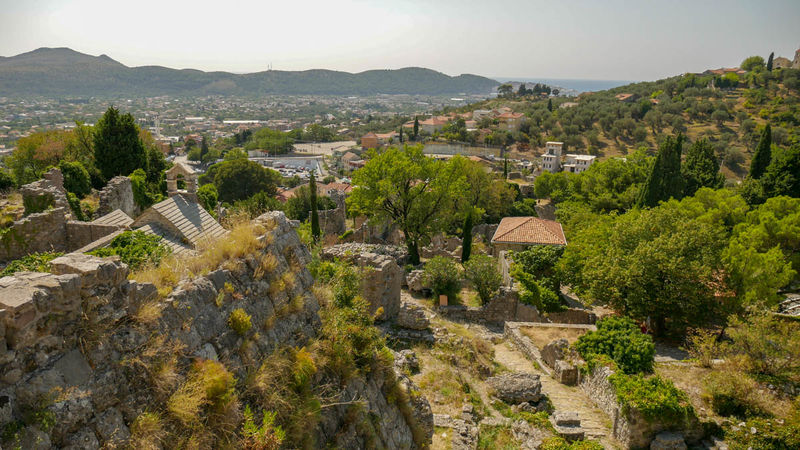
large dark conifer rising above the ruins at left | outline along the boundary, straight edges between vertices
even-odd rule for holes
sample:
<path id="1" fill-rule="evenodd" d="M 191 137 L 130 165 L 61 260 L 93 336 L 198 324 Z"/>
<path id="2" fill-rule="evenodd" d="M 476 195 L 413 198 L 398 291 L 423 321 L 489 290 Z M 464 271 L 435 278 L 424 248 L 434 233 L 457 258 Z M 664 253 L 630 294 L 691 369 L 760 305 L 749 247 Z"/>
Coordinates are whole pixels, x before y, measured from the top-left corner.
<path id="1" fill-rule="evenodd" d="M 144 144 L 130 113 L 120 115 L 109 107 L 97 121 L 93 137 L 95 165 L 107 180 L 146 167 Z"/>

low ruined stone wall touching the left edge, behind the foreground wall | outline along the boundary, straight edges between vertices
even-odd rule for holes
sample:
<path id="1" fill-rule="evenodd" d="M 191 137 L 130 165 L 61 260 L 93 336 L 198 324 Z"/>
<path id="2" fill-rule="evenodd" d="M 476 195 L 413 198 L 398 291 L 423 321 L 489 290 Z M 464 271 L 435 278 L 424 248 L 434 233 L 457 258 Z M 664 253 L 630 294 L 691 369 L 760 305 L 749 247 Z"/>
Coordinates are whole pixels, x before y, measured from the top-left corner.
<path id="1" fill-rule="evenodd" d="M 29 253 L 66 250 L 65 214 L 65 208 L 55 208 L 15 221 L 0 237 L 0 262 Z"/>

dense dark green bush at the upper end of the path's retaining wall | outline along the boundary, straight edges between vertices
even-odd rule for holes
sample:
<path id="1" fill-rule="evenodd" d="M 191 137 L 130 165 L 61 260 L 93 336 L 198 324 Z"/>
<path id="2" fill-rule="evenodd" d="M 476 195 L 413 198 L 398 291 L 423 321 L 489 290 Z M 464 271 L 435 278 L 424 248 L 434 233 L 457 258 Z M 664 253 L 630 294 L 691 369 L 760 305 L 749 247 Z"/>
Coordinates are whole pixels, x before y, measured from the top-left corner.
<path id="1" fill-rule="evenodd" d="M 642 333 L 627 317 L 609 316 L 600 320 L 597 331 L 579 337 L 574 347 L 589 364 L 597 355 L 605 355 L 627 374 L 653 370 L 656 352 L 653 338 Z"/>

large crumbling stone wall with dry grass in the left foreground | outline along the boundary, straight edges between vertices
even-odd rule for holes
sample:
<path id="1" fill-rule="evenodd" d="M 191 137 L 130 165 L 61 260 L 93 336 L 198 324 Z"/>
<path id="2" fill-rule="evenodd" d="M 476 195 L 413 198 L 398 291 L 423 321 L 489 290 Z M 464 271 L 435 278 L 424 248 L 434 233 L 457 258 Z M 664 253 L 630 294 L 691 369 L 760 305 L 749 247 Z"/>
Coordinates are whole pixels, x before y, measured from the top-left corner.
<path id="1" fill-rule="evenodd" d="M 148 372 L 137 363 L 147 361 L 148 352 L 177 353 L 184 373 L 195 358 L 219 360 L 244 379 L 246 361 L 260 361 L 279 346 L 304 345 L 321 324 L 314 280 L 305 268 L 310 254 L 283 213 L 260 220 L 275 224 L 265 250 L 278 261 L 271 274 L 254 275 L 259 255 L 227 261 L 226 268 L 180 281 L 157 303 L 155 286 L 129 280 L 127 266 L 113 257 L 68 254 L 52 262 L 52 273 L 1 278 L 0 426 L 21 424 L 21 441 L 37 442 L 37 448 L 124 446 L 133 421 L 155 401 Z M 299 264 L 290 265 L 292 259 Z M 268 280 L 288 270 L 295 271 L 293 287 L 270 295 Z M 219 296 L 224 301 L 217 306 Z M 297 296 L 302 307 L 287 308 Z M 145 304 L 160 309 L 147 324 L 135 319 Z M 235 308 L 251 315 L 254 345 L 242 346 L 227 325 Z M 414 388 L 403 375 L 398 378 Z M 348 381 L 343 404 L 323 409 L 320 426 L 309 432 L 317 442 L 363 447 L 366 437 L 348 421 L 346 405 L 360 397 L 367 401 L 365 414 L 383 419 L 380 444 L 412 447 L 410 426 L 386 400 L 384 382 L 378 374 Z M 424 415 L 426 405 L 412 406 Z M 52 427 L 26 419 L 37 408 L 52 415 Z"/>

